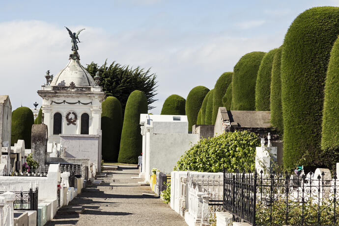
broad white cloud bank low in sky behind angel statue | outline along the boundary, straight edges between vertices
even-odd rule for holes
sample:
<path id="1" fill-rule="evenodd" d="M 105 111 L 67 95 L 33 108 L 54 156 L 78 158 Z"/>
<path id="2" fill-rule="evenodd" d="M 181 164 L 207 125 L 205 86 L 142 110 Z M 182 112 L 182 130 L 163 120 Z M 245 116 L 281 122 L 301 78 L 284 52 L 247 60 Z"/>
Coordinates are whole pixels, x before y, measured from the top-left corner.
<path id="1" fill-rule="evenodd" d="M 189 91 L 204 85 L 213 88 L 218 77 L 232 71 L 240 57 L 251 51 L 268 51 L 282 44 L 283 34 L 234 37 L 224 33 L 199 36 L 177 35 L 169 30 L 131 30 L 112 35 L 103 29 L 86 28 L 79 38 L 81 62 L 98 64 L 113 60 L 120 64 L 151 67 L 158 75 L 159 101 L 153 113 L 160 113 L 164 100 L 171 94 L 186 99 Z M 41 103 L 36 91 L 45 82 L 45 72 L 56 75 L 68 62 L 70 38 L 64 27 L 41 21 L 0 23 L 0 94 L 10 95 L 13 109 Z"/>

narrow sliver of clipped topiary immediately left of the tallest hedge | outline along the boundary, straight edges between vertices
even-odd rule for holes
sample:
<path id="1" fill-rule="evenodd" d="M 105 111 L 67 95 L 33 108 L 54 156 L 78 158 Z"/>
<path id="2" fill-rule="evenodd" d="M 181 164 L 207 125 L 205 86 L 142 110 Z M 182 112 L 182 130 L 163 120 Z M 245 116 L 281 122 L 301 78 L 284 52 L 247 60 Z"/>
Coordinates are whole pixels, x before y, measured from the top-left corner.
<path id="1" fill-rule="evenodd" d="M 282 66 L 282 47 L 280 47 L 273 58 L 272 76 L 271 76 L 271 124 L 283 131 L 282 124 L 282 80 L 281 80 L 281 66 Z"/>

